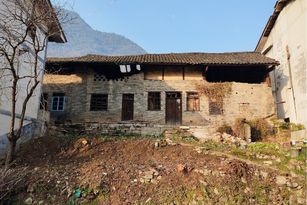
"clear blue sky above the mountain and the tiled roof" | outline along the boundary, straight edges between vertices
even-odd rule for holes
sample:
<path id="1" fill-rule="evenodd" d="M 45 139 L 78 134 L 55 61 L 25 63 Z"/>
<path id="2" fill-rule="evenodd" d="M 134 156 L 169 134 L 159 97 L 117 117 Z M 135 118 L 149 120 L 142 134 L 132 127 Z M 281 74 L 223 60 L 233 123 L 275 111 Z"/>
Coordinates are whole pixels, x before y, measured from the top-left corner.
<path id="1" fill-rule="evenodd" d="M 76 0 L 82 18 L 112 0 Z M 276 0 L 117 0 L 85 18 L 148 53 L 254 51 Z"/>

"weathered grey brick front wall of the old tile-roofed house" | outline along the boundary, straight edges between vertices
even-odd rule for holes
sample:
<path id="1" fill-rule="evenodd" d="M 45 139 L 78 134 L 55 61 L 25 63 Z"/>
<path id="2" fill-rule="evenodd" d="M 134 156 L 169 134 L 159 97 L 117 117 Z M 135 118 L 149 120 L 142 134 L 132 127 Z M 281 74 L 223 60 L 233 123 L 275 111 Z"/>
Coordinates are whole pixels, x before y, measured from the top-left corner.
<path id="1" fill-rule="evenodd" d="M 159 66 L 157 67 L 159 69 Z M 177 70 L 180 70 L 180 67 Z M 176 69 L 173 67 L 171 70 Z M 45 75 L 43 92 L 49 93 L 47 110 L 51 109 L 52 93 L 65 92 L 64 111 L 52 111 L 51 116 L 54 118 L 65 116 L 65 119 L 73 122 L 120 122 L 122 94 L 132 93 L 134 94 L 134 120 L 151 120 L 164 124 L 166 91 L 182 92 L 183 125 L 220 124 L 222 120 L 231 123 L 238 117 L 252 119 L 274 113 L 271 88 L 264 83 L 233 82 L 231 96 L 223 103 L 223 115 L 209 115 L 209 102 L 206 96 L 200 97 L 200 111 L 186 111 L 186 92 L 197 91 L 191 80 L 144 79 L 145 76 L 148 78 L 150 75 L 144 75 L 141 72 L 123 81 L 94 81 L 94 74 L 95 72 L 89 68 L 80 68 L 72 75 Z M 155 78 L 153 74 L 152 76 Z M 203 80 L 197 81 L 203 82 Z M 147 91 L 161 92 L 161 111 L 147 110 Z M 90 111 L 90 99 L 93 93 L 108 94 L 106 111 Z M 244 110 L 242 104 L 246 105 Z"/>

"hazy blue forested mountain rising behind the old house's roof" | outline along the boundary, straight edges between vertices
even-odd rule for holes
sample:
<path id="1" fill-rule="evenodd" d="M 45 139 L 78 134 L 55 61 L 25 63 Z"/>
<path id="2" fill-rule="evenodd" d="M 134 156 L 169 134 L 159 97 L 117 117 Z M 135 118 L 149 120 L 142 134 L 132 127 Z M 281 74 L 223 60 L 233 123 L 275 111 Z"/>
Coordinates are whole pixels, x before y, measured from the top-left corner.
<path id="1" fill-rule="evenodd" d="M 68 42 L 48 46 L 47 57 L 78 57 L 86 54 L 122 56 L 147 53 L 141 46 L 122 35 L 93 30 L 79 14 L 72 12 L 70 15 L 77 17 L 75 22 L 80 22 L 64 29 Z"/>

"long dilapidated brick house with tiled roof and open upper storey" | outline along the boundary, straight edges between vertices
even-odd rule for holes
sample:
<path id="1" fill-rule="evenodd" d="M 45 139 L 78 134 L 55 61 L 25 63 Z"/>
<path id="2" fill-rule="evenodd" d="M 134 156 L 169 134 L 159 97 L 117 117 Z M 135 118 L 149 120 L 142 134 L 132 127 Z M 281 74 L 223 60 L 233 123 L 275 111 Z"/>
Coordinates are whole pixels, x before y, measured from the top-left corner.
<path id="1" fill-rule="evenodd" d="M 265 117 L 274 113 L 268 73 L 275 65 L 258 52 L 47 58 L 45 109 L 56 123 L 138 121 L 160 127 Z M 194 82 L 204 81 L 232 82 L 222 109 L 196 90 Z"/>

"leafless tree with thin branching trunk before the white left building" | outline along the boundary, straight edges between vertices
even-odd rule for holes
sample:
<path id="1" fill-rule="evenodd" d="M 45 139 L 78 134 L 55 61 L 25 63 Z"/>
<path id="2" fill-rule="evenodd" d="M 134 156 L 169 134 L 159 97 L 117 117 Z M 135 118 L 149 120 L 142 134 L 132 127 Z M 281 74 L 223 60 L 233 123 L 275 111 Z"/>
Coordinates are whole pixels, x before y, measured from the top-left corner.
<path id="1" fill-rule="evenodd" d="M 50 0 L 2 0 L 0 4 L 0 108 L 11 104 L 6 164 L 13 160 L 27 103 L 40 97 L 48 41 L 61 38 L 61 24 L 72 23 L 71 10 L 68 2 Z M 16 111 L 21 113 L 19 123 Z"/>

